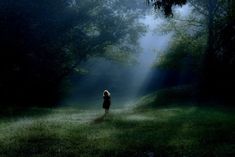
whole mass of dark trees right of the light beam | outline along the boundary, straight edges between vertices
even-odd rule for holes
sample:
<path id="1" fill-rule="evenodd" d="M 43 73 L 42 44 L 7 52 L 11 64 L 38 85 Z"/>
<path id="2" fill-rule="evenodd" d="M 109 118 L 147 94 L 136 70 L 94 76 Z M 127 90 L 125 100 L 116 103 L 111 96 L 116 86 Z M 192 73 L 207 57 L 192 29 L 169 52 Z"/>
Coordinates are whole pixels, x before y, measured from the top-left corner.
<path id="1" fill-rule="evenodd" d="M 171 18 L 175 17 L 173 7 L 186 1 L 147 0 L 147 3 Z M 191 83 L 196 85 L 194 92 L 200 98 L 234 101 L 235 3 L 231 0 L 188 0 L 187 3 L 193 8 L 193 15 L 180 21 L 181 25 L 172 24 L 176 40 L 157 65 L 165 72 L 170 71 L 163 76 L 163 82 L 168 86 Z M 152 82 L 155 80 L 153 76 Z"/>

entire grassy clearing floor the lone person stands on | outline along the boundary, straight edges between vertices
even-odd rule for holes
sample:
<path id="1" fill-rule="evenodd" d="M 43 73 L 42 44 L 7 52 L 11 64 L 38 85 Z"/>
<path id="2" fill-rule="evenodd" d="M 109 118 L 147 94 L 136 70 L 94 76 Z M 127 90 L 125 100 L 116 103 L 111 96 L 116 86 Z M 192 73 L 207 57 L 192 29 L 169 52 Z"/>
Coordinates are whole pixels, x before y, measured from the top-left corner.
<path id="1" fill-rule="evenodd" d="M 193 104 L 113 109 L 107 116 L 32 108 L 0 119 L 0 157 L 26 156 L 235 156 L 235 114 Z"/>

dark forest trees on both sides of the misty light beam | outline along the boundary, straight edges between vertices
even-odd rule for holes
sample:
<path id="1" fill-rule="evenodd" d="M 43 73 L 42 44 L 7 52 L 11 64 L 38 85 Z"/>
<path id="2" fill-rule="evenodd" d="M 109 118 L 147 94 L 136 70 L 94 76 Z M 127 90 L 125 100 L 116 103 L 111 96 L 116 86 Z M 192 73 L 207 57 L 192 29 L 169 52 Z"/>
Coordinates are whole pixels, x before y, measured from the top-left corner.
<path id="1" fill-rule="evenodd" d="M 56 106 L 69 88 L 68 76 L 84 75 L 82 61 L 93 56 L 123 61 L 137 53 L 145 32 L 138 19 L 151 6 L 170 20 L 177 16 L 174 7 L 187 2 L 194 16 L 163 27 L 182 29 L 156 61 L 155 68 L 171 78 L 161 88 L 177 86 L 172 82 L 184 77 L 180 84 L 192 84 L 198 99 L 234 101 L 232 0 L 1 0 L 0 106 Z M 157 90 L 158 80 L 153 75 L 146 88 Z"/>

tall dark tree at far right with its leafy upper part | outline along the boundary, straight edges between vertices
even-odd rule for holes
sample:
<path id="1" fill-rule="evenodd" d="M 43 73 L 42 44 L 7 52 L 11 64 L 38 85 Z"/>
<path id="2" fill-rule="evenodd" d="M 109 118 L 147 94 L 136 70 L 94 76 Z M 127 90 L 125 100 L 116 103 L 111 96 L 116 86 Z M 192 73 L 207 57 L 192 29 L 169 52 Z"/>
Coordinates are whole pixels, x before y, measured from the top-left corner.
<path id="1" fill-rule="evenodd" d="M 201 89 L 206 96 L 220 97 L 224 100 L 232 98 L 230 91 L 235 88 L 233 76 L 235 68 L 233 51 L 235 45 L 234 1 L 188 0 L 188 2 L 194 11 L 205 17 L 207 25 L 207 49 L 202 64 Z M 171 4 L 177 3 L 171 1 Z M 172 6 L 170 5 L 170 7 Z M 162 9 L 161 6 L 155 8 Z M 164 8 L 163 11 L 165 11 Z M 169 16 L 170 14 L 165 15 Z"/>

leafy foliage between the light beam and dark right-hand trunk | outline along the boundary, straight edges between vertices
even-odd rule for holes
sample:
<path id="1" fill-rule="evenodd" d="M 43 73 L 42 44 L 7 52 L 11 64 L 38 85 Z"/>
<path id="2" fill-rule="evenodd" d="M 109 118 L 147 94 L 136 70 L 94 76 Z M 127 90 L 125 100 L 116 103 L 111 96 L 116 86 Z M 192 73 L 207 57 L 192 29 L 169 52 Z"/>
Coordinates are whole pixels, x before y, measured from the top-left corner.
<path id="1" fill-rule="evenodd" d="M 159 52 L 156 57 L 154 68 L 156 71 L 160 70 L 161 73 L 165 73 L 165 76 L 162 75 L 161 78 L 169 80 L 162 82 L 161 88 L 198 83 L 203 55 L 207 47 L 204 20 L 195 12 L 189 12 L 187 16 L 175 12 L 173 18 L 165 20 L 157 27 L 157 32 L 170 33 L 172 40 L 168 48 Z M 159 74 L 156 74 L 156 77 L 157 75 Z"/>

